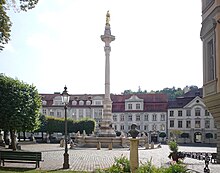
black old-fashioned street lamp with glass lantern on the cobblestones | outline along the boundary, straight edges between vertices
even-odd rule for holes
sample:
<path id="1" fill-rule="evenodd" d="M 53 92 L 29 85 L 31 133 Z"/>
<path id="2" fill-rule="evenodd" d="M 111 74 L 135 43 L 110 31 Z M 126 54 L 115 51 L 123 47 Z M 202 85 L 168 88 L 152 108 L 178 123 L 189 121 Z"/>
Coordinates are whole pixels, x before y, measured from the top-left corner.
<path id="1" fill-rule="evenodd" d="M 61 95 L 62 98 L 62 103 L 64 103 L 64 111 L 65 111 L 65 153 L 63 154 L 64 156 L 64 163 L 63 163 L 63 169 L 69 169 L 70 164 L 69 164 L 69 154 L 68 154 L 68 148 L 67 148 L 67 104 L 69 103 L 69 94 L 67 93 L 67 87 L 64 87 L 64 91 Z"/>

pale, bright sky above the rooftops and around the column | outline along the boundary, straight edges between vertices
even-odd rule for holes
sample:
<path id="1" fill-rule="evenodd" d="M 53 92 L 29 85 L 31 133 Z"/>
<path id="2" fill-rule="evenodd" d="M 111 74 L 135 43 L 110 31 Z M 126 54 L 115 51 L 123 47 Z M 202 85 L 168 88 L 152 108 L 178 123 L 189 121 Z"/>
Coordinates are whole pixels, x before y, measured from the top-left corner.
<path id="1" fill-rule="evenodd" d="M 9 12 L 11 41 L 0 72 L 40 93 L 104 93 L 105 15 L 111 14 L 111 93 L 202 87 L 201 2 L 192 0 L 40 0 Z"/>

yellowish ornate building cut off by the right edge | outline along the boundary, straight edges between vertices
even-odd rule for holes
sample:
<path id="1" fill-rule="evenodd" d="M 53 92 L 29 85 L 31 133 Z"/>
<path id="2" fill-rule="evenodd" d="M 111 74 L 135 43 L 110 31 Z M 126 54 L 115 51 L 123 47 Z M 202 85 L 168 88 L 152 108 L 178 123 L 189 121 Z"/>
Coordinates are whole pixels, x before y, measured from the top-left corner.
<path id="1" fill-rule="evenodd" d="M 220 163 L 220 0 L 202 0 L 203 94 L 217 124 L 217 162 Z"/>

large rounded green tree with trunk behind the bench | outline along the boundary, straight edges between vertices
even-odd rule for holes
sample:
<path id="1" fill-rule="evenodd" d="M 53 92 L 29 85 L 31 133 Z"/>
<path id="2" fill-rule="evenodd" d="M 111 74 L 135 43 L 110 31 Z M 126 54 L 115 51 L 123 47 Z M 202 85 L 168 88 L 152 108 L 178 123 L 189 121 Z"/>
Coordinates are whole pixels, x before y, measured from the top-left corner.
<path id="1" fill-rule="evenodd" d="M 0 129 L 10 131 L 16 150 L 15 132 L 38 128 L 41 98 L 33 85 L 0 74 Z"/>

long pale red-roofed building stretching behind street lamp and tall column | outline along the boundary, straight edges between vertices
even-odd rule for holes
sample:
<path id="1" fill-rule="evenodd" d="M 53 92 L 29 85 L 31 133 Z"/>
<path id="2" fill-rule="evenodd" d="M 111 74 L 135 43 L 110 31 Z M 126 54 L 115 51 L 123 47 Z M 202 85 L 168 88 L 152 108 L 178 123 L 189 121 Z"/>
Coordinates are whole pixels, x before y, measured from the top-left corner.
<path id="1" fill-rule="evenodd" d="M 60 93 L 41 94 L 42 113 L 64 118 L 64 108 Z M 94 118 L 100 121 L 103 114 L 104 94 L 70 95 L 68 118 L 80 120 Z M 141 132 L 150 136 L 150 141 L 158 142 L 159 133 L 167 133 L 167 104 L 165 94 L 113 95 L 112 118 L 115 130 L 127 133 L 131 124 L 136 123 Z"/>

